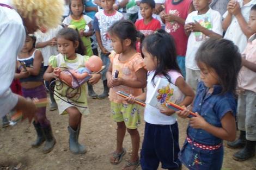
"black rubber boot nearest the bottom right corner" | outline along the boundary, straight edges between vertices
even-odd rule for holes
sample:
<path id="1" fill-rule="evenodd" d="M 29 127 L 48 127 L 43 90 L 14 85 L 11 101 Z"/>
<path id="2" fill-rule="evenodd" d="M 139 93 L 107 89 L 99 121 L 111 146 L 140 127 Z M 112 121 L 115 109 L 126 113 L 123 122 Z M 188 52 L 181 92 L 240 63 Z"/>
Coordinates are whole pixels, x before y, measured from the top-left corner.
<path id="1" fill-rule="evenodd" d="M 255 144 L 256 144 L 256 141 L 246 140 L 245 147 L 239 152 L 236 152 L 233 155 L 233 159 L 236 161 L 245 161 L 255 156 Z"/>

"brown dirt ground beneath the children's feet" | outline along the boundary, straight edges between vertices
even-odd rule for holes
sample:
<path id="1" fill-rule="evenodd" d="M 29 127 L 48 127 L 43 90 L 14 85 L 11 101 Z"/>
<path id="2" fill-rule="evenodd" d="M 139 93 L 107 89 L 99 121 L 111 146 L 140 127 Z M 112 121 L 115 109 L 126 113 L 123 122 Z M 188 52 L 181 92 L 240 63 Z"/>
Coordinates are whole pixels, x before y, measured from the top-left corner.
<path id="1" fill-rule="evenodd" d="M 95 91 L 103 91 L 102 81 L 94 85 Z M 0 168 L 1 169 L 121 169 L 129 160 L 131 150 L 130 135 L 126 133 L 124 148 L 127 153 L 118 165 L 112 165 L 109 157 L 115 149 L 115 123 L 110 118 L 110 102 L 108 98 L 99 100 L 88 97 L 90 114 L 82 117 L 79 141 L 87 147 L 87 153 L 73 155 L 69 152 L 68 116 L 59 116 L 57 111 L 48 111 L 47 117 L 51 121 L 54 137 L 57 140 L 52 152 L 42 153 L 42 146 L 31 148 L 36 137 L 35 129 L 27 121 L 19 122 L 14 126 L 2 128 L 0 131 Z M 142 114 L 143 117 L 144 114 Z M 180 132 L 180 147 L 185 140 L 188 119 L 178 118 Z M 143 141 L 144 125 L 139 126 L 141 144 Z M 2 124 L 0 123 L 0 127 Z M 225 145 L 226 141 L 224 141 Z M 238 162 L 232 155 L 239 149 L 224 147 L 223 169 L 253 170 L 256 156 L 247 161 Z M 15 168 L 16 167 L 16 168 Z M 20 167 L 20 168 L 19 168 Z M 162 169 L 159 167 L 159 169 Z M 182 166 L 182 170 L 187 169 Z M 137 168 L 141 170 L 141 166 Z"/>

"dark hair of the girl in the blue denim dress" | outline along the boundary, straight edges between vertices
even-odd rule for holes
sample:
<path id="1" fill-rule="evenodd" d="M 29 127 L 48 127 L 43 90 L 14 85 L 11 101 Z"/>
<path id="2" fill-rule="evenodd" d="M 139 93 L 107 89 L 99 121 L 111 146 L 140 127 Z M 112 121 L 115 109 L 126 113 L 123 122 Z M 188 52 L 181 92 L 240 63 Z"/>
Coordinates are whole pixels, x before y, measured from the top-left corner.
<path id="1" fill-rule="evenodd" d="M 221 95 L 230 90 L 235 93 L 242 59 L 239 48 L 232 41 L 217 37 L 206 40 L 196 53 L 196 61 L 197 64 L 203 62 L 209 70 L 216 71 L 223 87 Z"/>

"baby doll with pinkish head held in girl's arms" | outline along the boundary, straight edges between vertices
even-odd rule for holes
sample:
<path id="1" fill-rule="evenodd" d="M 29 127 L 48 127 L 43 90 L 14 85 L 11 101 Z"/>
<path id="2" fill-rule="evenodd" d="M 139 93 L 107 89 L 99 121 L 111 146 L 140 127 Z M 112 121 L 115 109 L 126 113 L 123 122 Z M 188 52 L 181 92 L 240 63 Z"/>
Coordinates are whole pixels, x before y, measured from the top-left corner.
<path id="1" fill-rule="evenodd" d="M 101 58 L 93 55 L 89 58 L 89 60 L 84 62 L 84 66 L 86 67 L 80 67 L 75 70 L 67 71 L 61 71 L 60 68 L 56 69 L 58 69 L 57 74 L 59 74 L 59 79 L 63 80 L 66 84 L 75 89 L 90 78 L 89 74 L 100 71 L 102 65 L 103 61 Z"/>

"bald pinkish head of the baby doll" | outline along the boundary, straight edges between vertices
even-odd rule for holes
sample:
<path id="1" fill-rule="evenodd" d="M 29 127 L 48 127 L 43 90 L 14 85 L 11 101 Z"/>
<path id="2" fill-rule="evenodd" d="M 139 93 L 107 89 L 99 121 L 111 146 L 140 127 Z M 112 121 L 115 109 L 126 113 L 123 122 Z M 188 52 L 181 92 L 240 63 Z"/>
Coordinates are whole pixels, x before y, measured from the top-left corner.
<path id="1" fill-rule="evenodd" d="M 97 55 L 93 55 L 89 58 L 89 60 L 87 60 L 86 62 L 84 62 L 84 66 L 86 66 L 86 68 L 88 70 L 90 70 L 91 72 L 97 72 L 100 71 L 101 67 L 103 65 L 103 61 L 101 60 L 101 58 Z"/>

